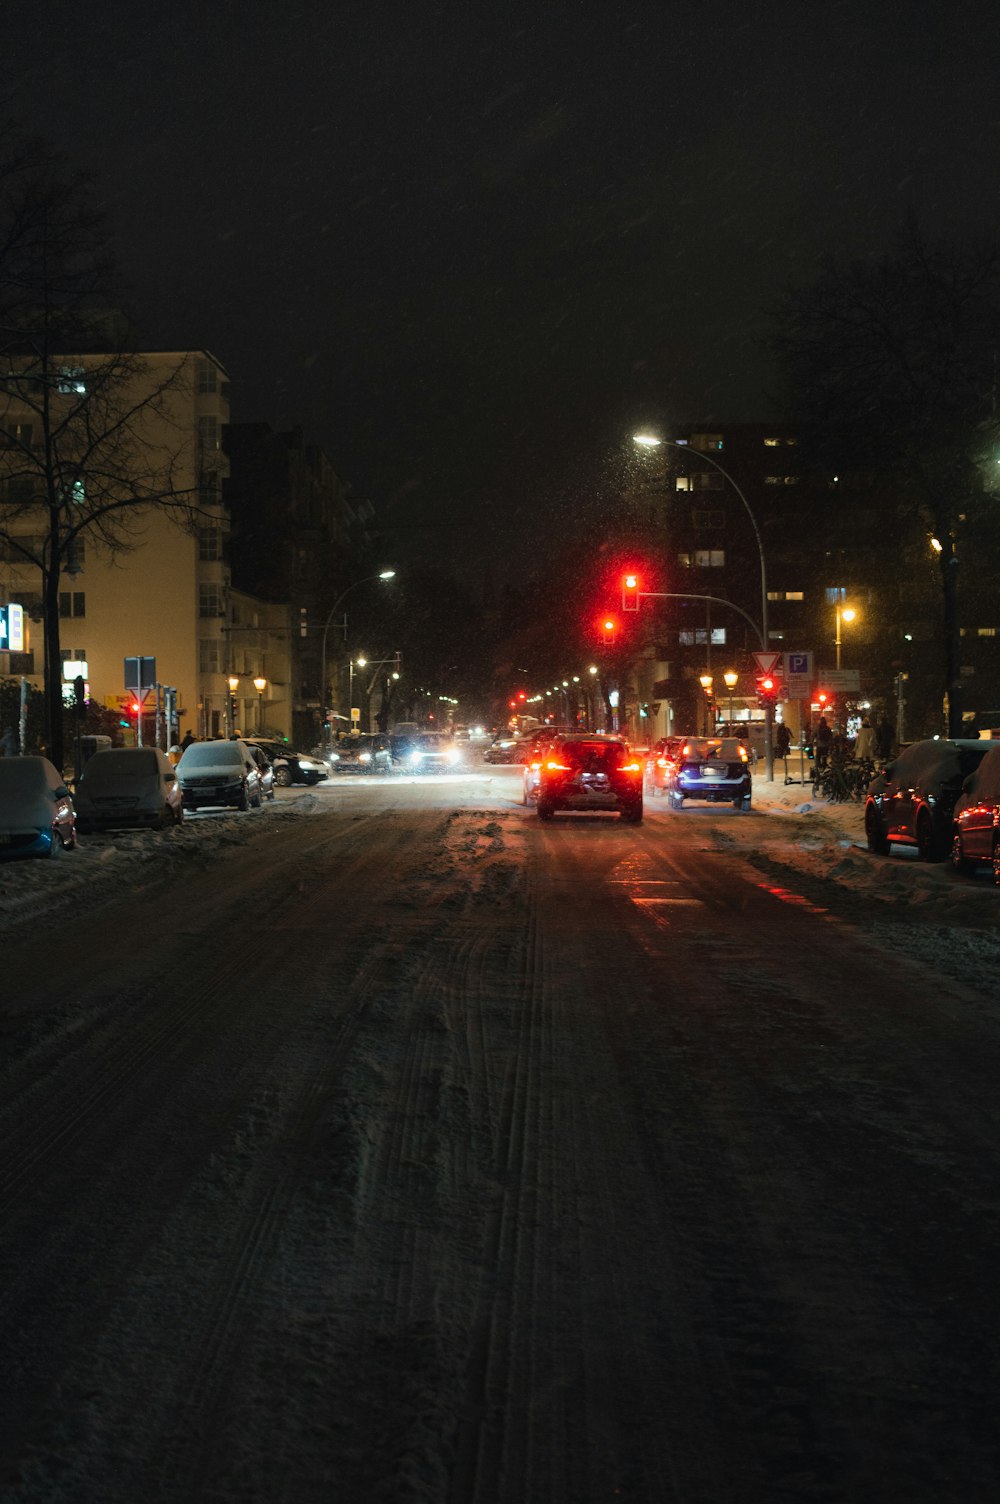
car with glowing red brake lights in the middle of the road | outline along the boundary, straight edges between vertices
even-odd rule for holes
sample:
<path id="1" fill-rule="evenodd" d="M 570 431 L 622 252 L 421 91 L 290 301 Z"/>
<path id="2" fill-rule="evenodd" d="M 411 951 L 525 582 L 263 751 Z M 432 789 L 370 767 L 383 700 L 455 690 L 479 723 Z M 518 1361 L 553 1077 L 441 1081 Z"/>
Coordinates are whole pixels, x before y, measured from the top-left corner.
<path id="1" fill-rule="evenodd" d="M 556 735 L 541 758 L 535 796 L 540 820 L 558 811 L 618 814 L 642 820 L 642 763 L 623 737 Z"/>

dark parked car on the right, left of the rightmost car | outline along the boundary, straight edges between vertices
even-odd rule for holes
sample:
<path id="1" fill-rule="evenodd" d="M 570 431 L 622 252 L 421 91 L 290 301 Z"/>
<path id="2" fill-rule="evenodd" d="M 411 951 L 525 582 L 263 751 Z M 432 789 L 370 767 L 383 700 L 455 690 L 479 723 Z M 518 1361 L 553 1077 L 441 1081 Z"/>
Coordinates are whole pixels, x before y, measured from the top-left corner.
<path id="1" fill-rule="evenodd" d="M 971 737 L 925 737 L 902 747 L 868 785 L 868 850 L 887 856 L 895 845 L 916 847 L 925 862 L 943 862 L 962 784 L 988 750 L 988 741 Z"/>

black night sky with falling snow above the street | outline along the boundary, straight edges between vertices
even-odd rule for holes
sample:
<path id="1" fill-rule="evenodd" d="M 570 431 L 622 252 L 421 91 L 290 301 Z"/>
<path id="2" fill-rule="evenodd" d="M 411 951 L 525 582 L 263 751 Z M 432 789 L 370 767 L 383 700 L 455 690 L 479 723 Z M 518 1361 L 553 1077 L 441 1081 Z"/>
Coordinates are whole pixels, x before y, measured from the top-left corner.
<path id="1" fill-rule="evenodd" d="M 146 346 L 478 559 L 642 421 L 767 417 L 821 254 L 995 238 L 998 63 L 985 0 L 36 0 L 0 89 L 98 174 Z"/>

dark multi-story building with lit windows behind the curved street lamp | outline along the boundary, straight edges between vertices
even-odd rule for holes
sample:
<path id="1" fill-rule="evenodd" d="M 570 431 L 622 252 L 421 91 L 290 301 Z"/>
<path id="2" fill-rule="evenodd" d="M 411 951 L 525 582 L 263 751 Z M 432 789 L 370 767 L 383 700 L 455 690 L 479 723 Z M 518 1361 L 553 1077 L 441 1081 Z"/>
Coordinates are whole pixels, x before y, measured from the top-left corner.
<path id="1" fill-rule="evenodd" d="M 940 729 L 938 566 L 919 507 L 892 477 L 809 463 L 780 424 L 705 426 L 650 448 L 645 466 L 636 496 L 663 538 L 665 582 L 651 588 L 675 599 L 656 602 L 639 699 L 668 702 L 677 728 L 692 729 L 705 717 L 701 678 L 711 677 L 720 717 L 729 704 L 755 711 L 753 654 L 765 648 L 811 654 L 814 690 L 826 687 L 838 719 L 869 701 L 905 734 Z M 959 550 L 970 713 L 1000 707 L 995 538 L 976 547 L 973 531 L 970 516 Z M 726 671 L 738 672 L 732 695 Z M 817 708 L 808 695 L 782 713 L 797 726 Z"/>

